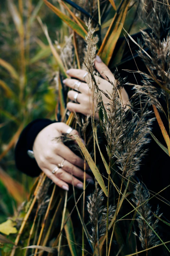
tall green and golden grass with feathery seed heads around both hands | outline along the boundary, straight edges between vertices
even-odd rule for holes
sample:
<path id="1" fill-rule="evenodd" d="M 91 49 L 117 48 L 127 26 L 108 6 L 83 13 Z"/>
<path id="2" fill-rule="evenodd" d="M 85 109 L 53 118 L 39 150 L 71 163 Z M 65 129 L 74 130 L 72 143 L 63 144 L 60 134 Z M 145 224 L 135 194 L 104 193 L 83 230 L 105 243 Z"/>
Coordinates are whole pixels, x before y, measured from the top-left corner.
<path id="1" fill-rule="evenodd" d="M 78 143 L 76 152 L 88 162 L 95 177 L 95 186 L 89 195 L 89 185 L 85 184 L 84 179 L 82 193 L 74 186 L 72 193 L 67 193 L 52 184 L 42 173 L 35 180 L 26 202 L 17 208 L 14 217 L 10 218 L 12 224 L 10 223 L 8 230 L 0 226 L 0 232 L 3 233 L 0 236 L 2 255 L 27 256 L 38 253 L 48 256 L 125 256 L 138 255 L 142 252 L 146 255 L 154 255 L 152 249 L 158 246 L 161 246 L 162 251 L 168 255 L 169 241 L 164 241 L 158 232 L 158 221 L 164 222 L 167 226 L 169 222 L 161 218 L 162 213 L 159 209 L 152 212 L 149 200 L 157 195 L 150 194 L 146 186 L 136 181 L 134 177 L 140 169 L 142 157 L 147 152 L 144 146 L 149 147 L 148 135 L 151 133 L 153 122 L 153 118 L 150 118 L 149 105 L 153 106 L 166 146 L 162 145 L 153 134 L 152 137 L 162 150 L 170 155 L 169 131 L 166 131 L 158 112 L 158 110 L 162 111 L 166 115 L 170 127 L 169 35 L 165 35 L 162 39 L 160 34 L 161 29 L 165 30 L 169 24 L 169 9 L 164 2 L 149 0 L 142 2 L 140 8 L 137 3 L 128 0 L 116 3 L 112 0 L 69 2 L 69 4 L 67 1 L 50 3 L 44 0 L 44 2 L 46 6 L 42 7 L 42 1 L 39 1 L 33 8 L 31 1 L 27 5 L 22 1 L 16 2 L 15 5 L 11 0 L 7 1 L 9 20 L 18 33 L 16 38 L 20 51 L 17 55 L 18 65 L 15 65 L 16 60 L 13 59 L 13 63 L 9 64 L 5 56 L 0 60 L 4 73 L 0 83 L 2 90 L 9 96 L 9 104 L 12 104 L 10 106 L 17 109 L 17 114 L 11 113 L 9 108 L 2 111 L 3 134 L 5 129 L 7 132 L 8 126 L 11 127 L 11 123 L 15 123 L 16 130 L 14 135 L 12 134 L 12 139 L 6 139 L 9 144 L 0 157 L 7 159 L 10 156 L 9 150 L 15 145 L 21 129 L 32 118 L 54 117 L 60 113 L 62 120 L 78 129 L 85 141 L 83 144 L 80 138 L 75 136 Z M 147 9 L 148 6 L 150 9 Z M 57 42 L 53 39 L 53 31 L 50 31 L 52 28 L 48 22 L 47 26 L 44 25 L 47 19 L 44 12 L 49 12 L 48 7 L 51 15 L 55 13 L 63 21 L 62 29 L 57 27 Z M 132 22 L 129 19 L 129 13 L 132 9 L 135 13 L 138 8 L 143 11 L 143 17 L 147 17 L 145 25 L 151 29 L 149 33 L 142 31 L 149 53 L 144 50 L 143 45 L 139 45 L 138 53 L 144 60 L 148 72 L 137 71 L 143 76 L 143 81 L 141 85 L 134 85 L 136 93 L 130 99 L 131 104 L 123 105 L 121 90 L 126 83 L 125 79 L 120 77 L 116 69 L 115 80 L 111 81 L 107 78 L 112 86 L 112 92 L 110 94 L 103 92 L 99 88 L 98 79 L 95 78 L 99 74 L 94 68 L 94 59 L 98 54 L 108 64 L 114 53 L 117 63 L 121 62 L 123 44 L 120 45 L 117 53 L 115 53 L 115 45 L 122 34 L 122 26 L 126 35 L 131 38 L 130 34 L 138 24 L 135 20 Z M 25 13 L 27 13 L 26 17 Z M 39 17 L 36 20 L 37 14 Z M 32 31 L 33 24 L 35 27 Z M 5 25 L 9 27 L 9 24 Z M 39 38 L 37 38 L 38 33 L 40 33 Z M 34 37 L 41 48 L 39 51 L 34 46 L 34 42 L 32 44 Z M 91 116 L 70 113 L 67 118 L 65 114 L 67 99 L 64 92 L 67 92 L 67 89 L 62 80 L 67 77 L 66 69 L 71 67 L 84 68 L 89 73 L 88 84 L 93 99 Z M 37 86 L 35 77 L 39 79 L 44 70 L 47 74 L 44 78 L 46 82 L 52 76 L 55 76 L 54 81 L 57 81 L 57 107 L 52 94 L 56 84 L 47 87 L 47 84 L 41 81 L 41 86 Z M 7 72 L 10 74 L 10 79 Z M 32 81 L 34 86 L 30 88 L 29 84 Z M 155 83 L 158 86 L 155 86 Z M 40 95 L 38 90 L 42 90 Z M 108 99 L 107 106 L 102 102 L 103 94 Z M 165 111 L 161 105 L 160 94 L 163 95 L 166 103 Z M 5 104 L 4 98 L 2 102 Z M 96 108 L 94 102 L 97 102 Z M 136 104 L 140 105 L 140 108 L 136 108 Z M 3 106 L 5 108 L 5 105 Z M 40 108 L 41 106 L 43 108 Z M 99 121 L 95 120 L 96 113 L 99 114 Z M 3 137 L 3 134 L 2 140 L 6 136 Z M 75 144 L 70 139 L 65 135 L 62 139 L 66 145 L 75 150 Z M 106 148 L 101 143 L 103 139 L 106 141 Z M 5 160 L 4 162 L 6 163 Z M 4 180 L 2 179 L 3 184 L 5 184 Z M 15 179 L 11 182 L 18 189 L 17 191 L 23 189 L 21 184 L 16 186 Z M 23 184 L 23 180 L 20 182 Z M 13 197 L 16 196 L 14 190 L 5 185 L 9 193 Z M 26 197 L 26 193 L 24 195 Z M 15 198 L 18 203 L 21 199 Z M 17 229 L 12 229 L 13 226 Z"/>

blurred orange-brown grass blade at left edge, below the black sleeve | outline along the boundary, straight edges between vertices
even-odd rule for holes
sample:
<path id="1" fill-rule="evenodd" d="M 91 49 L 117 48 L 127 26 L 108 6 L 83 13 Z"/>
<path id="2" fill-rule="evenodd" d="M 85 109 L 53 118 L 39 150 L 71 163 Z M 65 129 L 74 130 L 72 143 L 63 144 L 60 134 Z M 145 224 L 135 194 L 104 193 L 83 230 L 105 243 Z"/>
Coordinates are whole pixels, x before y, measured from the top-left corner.
<path id="1" fill-rule="evenodd" d="M 5 185 L 9 194 L 21 204 L 27 197 L 27 193 L 18 181 L 12 179 L 1 167 L 0 167 L 0 180 Z"/>

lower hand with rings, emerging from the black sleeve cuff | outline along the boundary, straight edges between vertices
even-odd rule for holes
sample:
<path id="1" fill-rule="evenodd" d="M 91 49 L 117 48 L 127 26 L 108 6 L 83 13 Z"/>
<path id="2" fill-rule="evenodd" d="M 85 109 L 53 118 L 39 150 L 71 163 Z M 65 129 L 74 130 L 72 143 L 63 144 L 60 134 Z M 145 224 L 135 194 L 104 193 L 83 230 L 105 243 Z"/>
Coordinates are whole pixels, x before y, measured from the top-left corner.
<path id="1" fill-rule="evenodd" d="M 57 140 L 62 133 L 67 132 L 68 128 L 70 127 L 64 123 L 54 123 L 41 130 L 33 145 L 34 156 L 40 169 L 56 185 L 68 190 L 67 183 L 73 183 L 77 188 L 83 189 L 83 183 L 79 179 L 84 179 L 82 170 L 84 169 L 84 160 Z M 78 135 L 78 132 L 72 130 L 70 135 Z M 63 163 L 63 167 L 56 168 L 61 163 Z M 54 168 L 58 169 L 55 174 L 52 173 Z M 86 164 L 86 169 L 88 168 Z M 88 174 L 86 174 L 86 180 L 93 183 L 92 177 Z"/>

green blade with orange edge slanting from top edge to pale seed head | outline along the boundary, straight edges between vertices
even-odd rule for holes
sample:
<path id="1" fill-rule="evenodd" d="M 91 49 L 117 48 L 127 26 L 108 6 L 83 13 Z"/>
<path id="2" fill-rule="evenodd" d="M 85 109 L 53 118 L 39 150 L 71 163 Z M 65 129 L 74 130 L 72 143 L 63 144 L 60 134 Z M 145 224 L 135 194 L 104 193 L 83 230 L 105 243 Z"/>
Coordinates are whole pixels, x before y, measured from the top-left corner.
<path id="1" fill-rule="evenodd" d="M 50 4 L 47 0 L 44 0 L 44 3 L 57 15 L 59 16 L 69 27 L 71 27 L 79 36 L 85 39 L 86 33 L 84 30 L 72 21 L 67 15 L 63 14 L 58 8 Z"/>

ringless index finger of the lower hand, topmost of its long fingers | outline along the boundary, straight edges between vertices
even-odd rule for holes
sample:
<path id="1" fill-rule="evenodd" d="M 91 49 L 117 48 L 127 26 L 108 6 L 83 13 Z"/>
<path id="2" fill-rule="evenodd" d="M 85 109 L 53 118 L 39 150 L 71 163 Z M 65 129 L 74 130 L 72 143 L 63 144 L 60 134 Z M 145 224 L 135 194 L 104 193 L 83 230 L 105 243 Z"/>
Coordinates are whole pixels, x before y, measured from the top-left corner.
<path id="1" fill-rule="evenodd" d="M 56 154 L 66 159 L 68 162 L 84 169 L 84 160 L 78 157 L 75 153 L 73 153 L 67 146 L 63 143 L 57 143 L 55 145 Z M 86 164 L 86 169 L 89 169 L 88 164 Z"/>

